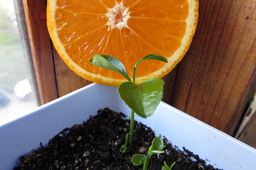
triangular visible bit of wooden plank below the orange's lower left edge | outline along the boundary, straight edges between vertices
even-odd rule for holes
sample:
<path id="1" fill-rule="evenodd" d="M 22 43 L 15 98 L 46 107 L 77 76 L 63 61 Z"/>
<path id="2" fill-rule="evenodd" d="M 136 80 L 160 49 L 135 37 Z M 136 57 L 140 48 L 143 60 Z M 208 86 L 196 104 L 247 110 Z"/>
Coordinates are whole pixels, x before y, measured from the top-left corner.
<path id="1" fill-rule="evenodd" d="M 55 48 L 53 48 L 52 50 L 54 54 L 55 76 L 59 97 L 69 94 L 72 91 L 75 91 L 92 83 L 86 79 L 79 77 L 61 59 Z"/>

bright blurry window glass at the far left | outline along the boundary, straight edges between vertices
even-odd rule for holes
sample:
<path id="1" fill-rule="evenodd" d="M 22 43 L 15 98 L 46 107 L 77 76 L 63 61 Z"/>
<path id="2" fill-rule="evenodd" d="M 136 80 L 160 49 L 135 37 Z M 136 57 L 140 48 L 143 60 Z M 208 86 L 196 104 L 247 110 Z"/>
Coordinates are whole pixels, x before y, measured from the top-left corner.
<path id="1" fill-rule="evenodd" d="M 0 0 L 0 125 L 37 107 L 12 0 Z"/>

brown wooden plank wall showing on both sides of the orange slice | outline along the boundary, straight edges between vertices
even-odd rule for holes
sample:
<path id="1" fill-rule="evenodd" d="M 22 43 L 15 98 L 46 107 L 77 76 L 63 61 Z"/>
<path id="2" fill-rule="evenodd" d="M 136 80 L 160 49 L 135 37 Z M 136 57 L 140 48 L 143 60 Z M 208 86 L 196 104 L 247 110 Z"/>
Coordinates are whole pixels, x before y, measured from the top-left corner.
<path id="1" fill-rule="evenodd" d="M 90 84 L 73 73 L 52 46 L 47 0 L 22 1 L 41 104 Z M 199 4 L 189 51 L 163 77 L 163 101 L 233 135 L 256 89 L 256 2 L 199 0 Z"/>

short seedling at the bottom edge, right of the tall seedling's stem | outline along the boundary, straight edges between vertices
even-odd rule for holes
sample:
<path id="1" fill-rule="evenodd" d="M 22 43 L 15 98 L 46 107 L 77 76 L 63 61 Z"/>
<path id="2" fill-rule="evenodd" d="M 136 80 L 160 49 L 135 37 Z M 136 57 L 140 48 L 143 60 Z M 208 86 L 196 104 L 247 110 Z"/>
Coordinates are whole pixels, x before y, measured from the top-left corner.
<path id="1" fill-rule="evenodd" d="M 151 156 L 156 153 L 164 153 L 163 147 L 163 138 L 161 136 L 155 137 L 152 141 L 152 145 L 148 148 L 147 155 L 145 156 L 143 154 L 135 154 L 132 156 L 131 161 L 135 165 L 143 164 L 143 170 L 147 170 L 148 162 Z"/>

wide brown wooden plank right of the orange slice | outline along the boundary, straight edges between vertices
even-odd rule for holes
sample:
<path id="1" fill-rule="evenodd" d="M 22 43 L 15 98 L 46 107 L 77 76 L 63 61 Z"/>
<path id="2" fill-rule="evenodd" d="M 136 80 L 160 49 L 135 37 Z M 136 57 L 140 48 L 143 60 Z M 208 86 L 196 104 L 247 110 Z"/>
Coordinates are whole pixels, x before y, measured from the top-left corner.
<path id="1" fill-rule="evenodd" d="M 180 62 L 172 105 L 232 134 L 256 68 L 251 0 L 199 0 L 198 28 Z M 251 92 L 250 92 L 251 93 Z M 250 98 L 250 97 L 247 97 Z"/>

